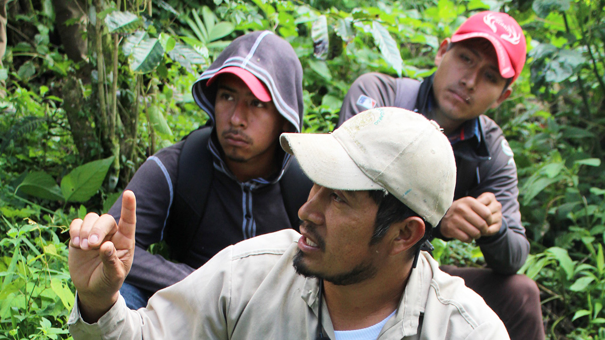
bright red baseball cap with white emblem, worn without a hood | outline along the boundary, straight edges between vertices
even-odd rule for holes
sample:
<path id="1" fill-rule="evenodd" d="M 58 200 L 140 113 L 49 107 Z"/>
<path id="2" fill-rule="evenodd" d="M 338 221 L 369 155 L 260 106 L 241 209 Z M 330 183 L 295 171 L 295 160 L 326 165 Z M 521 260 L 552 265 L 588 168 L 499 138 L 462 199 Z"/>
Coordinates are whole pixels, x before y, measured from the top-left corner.
<path id="1" fill-rule="evenodd" d="M 451 38 L 459 42 L 485 38 L 494 45 L 500 74 L 514 82 L 523 70 L 527 47 L 521 26 L 506 13 L 482 11 L 466 19 Z"/>

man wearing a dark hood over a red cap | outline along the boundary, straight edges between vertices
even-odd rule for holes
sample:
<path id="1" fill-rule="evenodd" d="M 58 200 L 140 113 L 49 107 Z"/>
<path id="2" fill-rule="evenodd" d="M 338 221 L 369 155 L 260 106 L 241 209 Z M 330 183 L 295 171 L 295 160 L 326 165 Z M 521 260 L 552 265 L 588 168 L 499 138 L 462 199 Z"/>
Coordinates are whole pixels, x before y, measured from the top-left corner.
<path id="1" fill-rule="evenodd" d="M 182 280 L 224 247 L 298 227 L 284 200 L 301 196 L 292 202 L 297 211 L 311 187 L 301 174 L 302 182 L 287 188 L 286 197 L 280 183 L 287 170 L 299 169 L 279 147 L 279 136 L 300 132 L 302 123 L 302 67 L 288 42 L 270 31 L 235 39 L 192 92 L 211 129 L 149 157 L 126 186 L 138 198 L 136 260 L 120 290 L 132 309 L 146 306 L 152 293 Z M 209 136 L 195 139 L 204 130 Z M 201 154 L 208 154 L 208 162 Z M 191 205 L 200 200 L 205 206 L 195 211 Z M 109 211 L 116 221 L 120 206 L 122 197 Z M 160 240 L 178 263 L 146 251 Z"/>

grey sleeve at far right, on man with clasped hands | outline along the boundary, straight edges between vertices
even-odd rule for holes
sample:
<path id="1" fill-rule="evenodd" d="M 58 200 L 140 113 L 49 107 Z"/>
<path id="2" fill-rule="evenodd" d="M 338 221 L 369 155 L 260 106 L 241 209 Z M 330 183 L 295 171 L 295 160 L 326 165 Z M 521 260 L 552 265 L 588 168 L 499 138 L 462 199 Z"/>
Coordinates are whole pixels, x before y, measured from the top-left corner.
<path id="1" fill-rule="evenodd" d="M 491 159 L 479 165 L 479 185 L 469 195 L 478 197 L 483 192 L 493 192 L 502 204 L 502 227 L 498 234 L 479 238 L 477 244 L 491 269 L 513 274 L 529 254 L 529 241 L 519 212 L 517 166 L 502 129 L 491 119 L 482 118 Z"/>

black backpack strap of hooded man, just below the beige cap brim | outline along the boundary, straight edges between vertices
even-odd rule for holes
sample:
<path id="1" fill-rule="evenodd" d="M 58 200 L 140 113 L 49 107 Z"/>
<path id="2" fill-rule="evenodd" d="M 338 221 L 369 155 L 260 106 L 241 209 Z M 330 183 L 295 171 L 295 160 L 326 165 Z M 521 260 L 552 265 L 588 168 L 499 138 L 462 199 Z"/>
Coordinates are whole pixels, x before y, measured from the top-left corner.
<path id="1" fill-rule="evenodd" d="M 296 231 L 298 231 L 299 226 L 298 209 L 309 198 L 309 191 L 311 191 L 312 186 L 313 182 L 302 172 L 296 157 L 292 156 L 290 165 L 280 179 L 280 189 L 290 225 Z"/>

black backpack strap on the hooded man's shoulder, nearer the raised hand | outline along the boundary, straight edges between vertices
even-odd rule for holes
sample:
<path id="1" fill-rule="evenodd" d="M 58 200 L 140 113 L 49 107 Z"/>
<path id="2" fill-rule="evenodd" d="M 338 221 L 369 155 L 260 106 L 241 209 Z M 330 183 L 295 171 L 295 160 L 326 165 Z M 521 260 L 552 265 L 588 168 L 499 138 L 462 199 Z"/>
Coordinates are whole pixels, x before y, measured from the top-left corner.
<path id="1" fill-rule="evenodd" d="M 169 230 L 172 255 L 182 261 L 200 226 L 212 183 L 214 165 L 208 149 L 211 126 L 203 126 L 185 137 L 185 144 L 178 158 L 178 177 L 171 208 Z M 167 236 L 168 237 L 168 236 Z M 180 244 L 180 246 L 176 246 Z"/>

